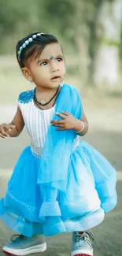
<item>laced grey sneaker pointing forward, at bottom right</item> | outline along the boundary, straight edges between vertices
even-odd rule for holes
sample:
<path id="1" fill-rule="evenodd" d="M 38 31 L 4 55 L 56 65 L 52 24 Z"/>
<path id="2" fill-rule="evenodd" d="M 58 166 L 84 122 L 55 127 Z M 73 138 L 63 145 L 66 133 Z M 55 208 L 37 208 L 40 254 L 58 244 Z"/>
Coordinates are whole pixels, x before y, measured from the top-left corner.
<path id="1" fill-rule="evenodd" d="M 91 232 L 73 232 L 71 256 L 93 256 L 91 239 L 94 239 Z"/>

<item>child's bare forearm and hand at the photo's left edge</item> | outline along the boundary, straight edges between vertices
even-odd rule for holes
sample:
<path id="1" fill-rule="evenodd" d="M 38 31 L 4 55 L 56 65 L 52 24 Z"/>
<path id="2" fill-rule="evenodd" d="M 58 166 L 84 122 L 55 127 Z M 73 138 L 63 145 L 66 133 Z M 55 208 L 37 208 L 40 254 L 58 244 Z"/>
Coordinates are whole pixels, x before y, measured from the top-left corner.
<path id="1" fill-rule="evenodd" d="M 20 135 L 24 128 L 24 119 L 22 117 L 20 109 L 17 107 L 17 113 L 13 117 L 13 121 L 9 124 L 1 124 L 0 125 L 0 137 L 8 138 L 8 137 L 17 137 Z"/>

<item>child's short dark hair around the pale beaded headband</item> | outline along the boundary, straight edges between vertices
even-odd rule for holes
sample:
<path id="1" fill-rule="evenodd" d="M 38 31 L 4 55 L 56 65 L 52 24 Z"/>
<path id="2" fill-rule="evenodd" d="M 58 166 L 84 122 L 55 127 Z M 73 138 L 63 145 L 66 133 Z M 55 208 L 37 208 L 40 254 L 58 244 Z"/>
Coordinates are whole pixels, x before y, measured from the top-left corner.
<path id="1" fill-rule="evenodd" d="M 57 38 L 54 35 L 49 34 L 42 34 L 40 36 L 37 36 L 35 39 L 32 40 L 31 43 L 28 44 L 20 53 L 20 58 L 18 55 L 18 52 L 20 50 L 20 46 L 23 45 L 23 43 L 32 37 L 32 35 L 36 35 L 39 32 L 32 33 L 30 35 L 27 35 L 23 39 L 21 39 L 16 46 L 16 54 L 17 54 L 17 61 L 20 65 L 20 69 L 24 68 L 25 61 L 28 60 L 28 58 L 35 57 L 37 58 L 43 51 L 44 47 L 47 44 L 50 43 L 58 43 Z"/>

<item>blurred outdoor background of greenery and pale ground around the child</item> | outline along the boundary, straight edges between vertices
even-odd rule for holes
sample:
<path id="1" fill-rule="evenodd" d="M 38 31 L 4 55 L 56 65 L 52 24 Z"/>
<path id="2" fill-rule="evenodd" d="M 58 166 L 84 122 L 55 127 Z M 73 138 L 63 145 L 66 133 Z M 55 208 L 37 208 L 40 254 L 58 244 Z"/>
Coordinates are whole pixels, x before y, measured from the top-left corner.
<path id="1" fill-rule="evenodd" d="M 17 41 L 31 32 L 47 32 L 59 39 L 66 60 L 65 82 L 79 89 L 90 124 L 88 134 L 82 139 L 101 151 L 116 168 L 118 205 L 94 232 L 98 235 L 104 255 L 120 256 L 122 1 L 0 0 L 0 123 L 12 121 L 19 93 L 34 87 L 34 84 L 24 80 L 15 56 Z M 16 139 L 0 139 L 1 195 L 4 195 L 20 151 L 28 143 L 25 131 Z M 1 230 L 2 243 L 5 243 L 9 230 L 3 224 Z M 57 242 L 53 242 L 59 250 L 56 254 L 52 249 L 51 254 L 68 254 L 66 243 L 68 239 L 70 241 L 70 236 L 63 237 L 63 249 L 60 248 L 59 236 Z"/>

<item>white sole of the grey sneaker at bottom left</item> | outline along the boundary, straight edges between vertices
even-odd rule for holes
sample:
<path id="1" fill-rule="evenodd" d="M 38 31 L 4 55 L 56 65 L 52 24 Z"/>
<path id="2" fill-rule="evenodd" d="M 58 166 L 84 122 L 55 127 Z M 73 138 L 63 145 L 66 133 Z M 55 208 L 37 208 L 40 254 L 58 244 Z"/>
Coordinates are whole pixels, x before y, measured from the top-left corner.
<path id="1" fill-rule="evenodd" d="M 35 245 L 35 247 L 28 247 L 25 249 L 10 249 L 9 247 L 3 247 L 2 250 L 5 254 L 23 256 L 28 254 L 38 254 L 47 249 L 46 243 Z"/>

